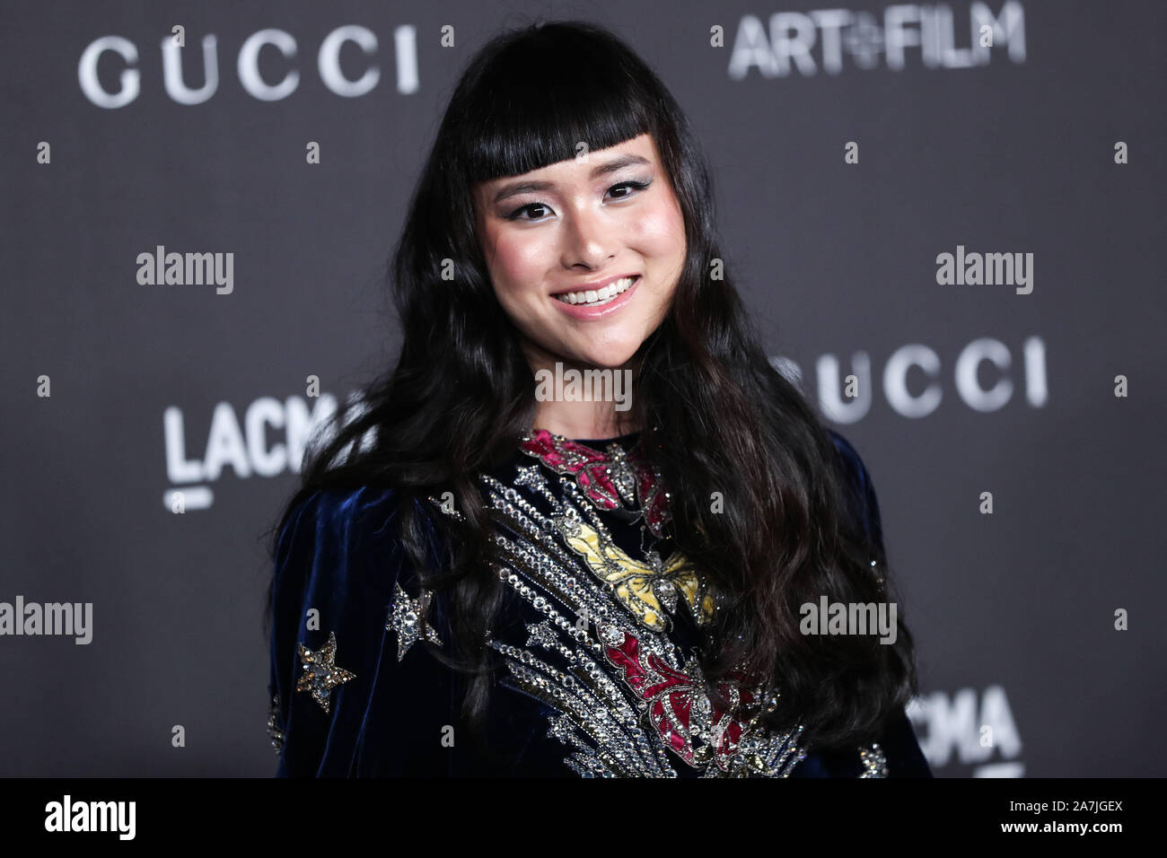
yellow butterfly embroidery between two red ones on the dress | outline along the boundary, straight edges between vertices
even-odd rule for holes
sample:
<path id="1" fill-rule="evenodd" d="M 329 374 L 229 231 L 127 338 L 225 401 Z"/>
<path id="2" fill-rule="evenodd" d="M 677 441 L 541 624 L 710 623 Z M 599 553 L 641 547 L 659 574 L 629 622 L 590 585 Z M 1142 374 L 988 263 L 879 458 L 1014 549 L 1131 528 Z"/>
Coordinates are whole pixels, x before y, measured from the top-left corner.
<path id="1" fill-rule="evenodd" d="M 652 632 L 671 628 L 664 611 L 676 611 L 678 594 L 698 626 L 713 619 L 717 600 L 712 588 L 679 551 L 664 561 L 655 551 L 649 552 L 650 563 L 645 564 L 633 559 L 610 540 L 601 540 L 595 530 L 576 518 L 559 516 L 553 521 L 567 545 L 645 628 Z"/>

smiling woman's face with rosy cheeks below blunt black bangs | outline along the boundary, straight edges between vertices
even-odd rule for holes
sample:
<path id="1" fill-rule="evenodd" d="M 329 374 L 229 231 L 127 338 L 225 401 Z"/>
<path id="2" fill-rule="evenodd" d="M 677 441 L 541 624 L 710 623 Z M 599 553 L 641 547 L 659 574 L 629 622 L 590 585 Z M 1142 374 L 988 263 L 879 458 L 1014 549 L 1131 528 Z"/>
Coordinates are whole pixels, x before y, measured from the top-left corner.
<path id="1" fill-rule="evenodd" d="M 619 368 L 664 319 L 685 223 L 651 134 L 482 182 L 474 200 L 495 294 L 534 369 Z"/>

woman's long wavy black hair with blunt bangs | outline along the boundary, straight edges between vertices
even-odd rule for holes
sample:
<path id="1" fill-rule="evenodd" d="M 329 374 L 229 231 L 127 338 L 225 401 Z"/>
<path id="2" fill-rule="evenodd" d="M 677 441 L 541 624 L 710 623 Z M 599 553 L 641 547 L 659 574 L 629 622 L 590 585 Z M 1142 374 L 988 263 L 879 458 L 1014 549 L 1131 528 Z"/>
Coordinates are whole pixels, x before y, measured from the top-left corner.
<path id="1" fill-rule="evenodd" d="M 643 133 L 680 202 L 687 257 L 666 318 L 637 353 L 629 413 L 670 489 L 676 547 L 727 594 L 706 639 L 717 644 L 704 648 L 708 691 L 745 669 L 781 691 L 767 726 L 802 724 L 827 747 L 874 739 L 916 693 L 911 636 L 902 619 L 894 644 L 799 633 L 799 606 L 820 595 L 879 602 L 892 591 L 880 592 L 872 572 L 875 546 L 827 430 L 770 365 L 725 274 L 708 167 L 684 114 L 652 70 L 595 25 L 505 33 L 467 65 L 392 259 L 397 365 L 364 389 L 358 417 L 337 413 L 345 425 L 309 446 L 277 532 L 316 489 L 393 488 L 407 557 L 424 586 L 449 598 L 454 654 L 429 650 L 466 671 L 462 716 L 481 721 L 497 667 L 482 642 L 503 593 L 475 474 L 515 455 L 536 400 L 519 334 L 491 287 L 471 186 L 574 158 L 579 141 L 595 152 Z M 431 516 L 448 557 L 429 568 L 415 501 L 447 490 L 464 521 Z M 722 511 L 711 511 L 714 493 Z"/>

